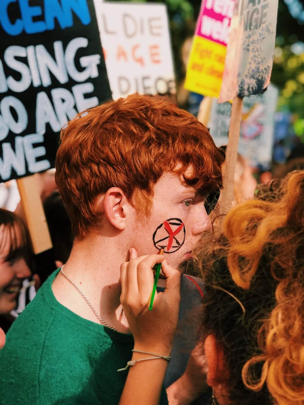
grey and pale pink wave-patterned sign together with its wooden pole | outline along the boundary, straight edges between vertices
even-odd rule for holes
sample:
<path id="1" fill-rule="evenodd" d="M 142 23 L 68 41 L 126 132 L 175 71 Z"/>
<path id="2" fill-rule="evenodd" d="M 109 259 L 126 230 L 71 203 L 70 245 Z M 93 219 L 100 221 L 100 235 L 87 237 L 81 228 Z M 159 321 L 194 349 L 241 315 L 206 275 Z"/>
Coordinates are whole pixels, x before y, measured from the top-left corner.
<path id="1" fill-rule="evenodd" d="M 242 99 L 261 94 L 272 70 L 278 0 L 235 0 L 218 102 L 233 100 L 222 202 L 233 200 L 233 179 L 240 134 Z"/>

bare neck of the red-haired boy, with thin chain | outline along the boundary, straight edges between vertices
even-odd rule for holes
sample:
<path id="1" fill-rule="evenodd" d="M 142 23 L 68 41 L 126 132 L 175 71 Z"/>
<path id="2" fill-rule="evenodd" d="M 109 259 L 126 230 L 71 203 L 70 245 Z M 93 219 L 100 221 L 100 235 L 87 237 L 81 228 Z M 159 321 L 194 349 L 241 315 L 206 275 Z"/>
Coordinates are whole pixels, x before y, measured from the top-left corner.
<path id="1" fill-rule="evenodd" d="M 75 240 L 64 273 L 77 285 L 101 318 L 122 333 L 129 333 L 120 304 L 120 264 L 127 260 L 114 238 L 89 236 Z M 60 272 L 52 285 L 57 300 L 82 318 L 100 323 L 76 288 Z"/>

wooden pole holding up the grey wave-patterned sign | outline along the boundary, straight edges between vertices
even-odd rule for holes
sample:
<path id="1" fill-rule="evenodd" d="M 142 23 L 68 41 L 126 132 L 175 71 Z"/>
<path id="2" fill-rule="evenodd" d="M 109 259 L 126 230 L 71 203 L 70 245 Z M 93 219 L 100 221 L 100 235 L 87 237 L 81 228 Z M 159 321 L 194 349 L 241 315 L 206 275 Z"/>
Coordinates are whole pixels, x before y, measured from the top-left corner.
<path id="1" fill-rule="evenodd" d="M 236 160 L 238 158 L 238 143 L 242 121 L 243 99 L 235 97 L 232 102 L 231 120 L 229 126 L 228 145 L 226 149 L 225 170 L 223 174 L 223 190 L 221 191 L 221 207 L 229 210 L 233 203 L 233 184 Z"/>

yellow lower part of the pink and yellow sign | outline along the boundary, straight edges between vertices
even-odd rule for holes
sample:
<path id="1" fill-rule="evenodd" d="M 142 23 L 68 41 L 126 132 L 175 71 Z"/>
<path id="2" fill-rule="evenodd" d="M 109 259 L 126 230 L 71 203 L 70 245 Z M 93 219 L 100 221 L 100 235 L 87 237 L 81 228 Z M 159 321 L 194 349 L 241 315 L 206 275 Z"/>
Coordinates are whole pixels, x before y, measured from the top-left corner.
<path id="1" fill-rule="evenodd" d="M 185 89 L 218 97 L 225 66 L 226 46 L 195 35 L 190 54 Z"/>

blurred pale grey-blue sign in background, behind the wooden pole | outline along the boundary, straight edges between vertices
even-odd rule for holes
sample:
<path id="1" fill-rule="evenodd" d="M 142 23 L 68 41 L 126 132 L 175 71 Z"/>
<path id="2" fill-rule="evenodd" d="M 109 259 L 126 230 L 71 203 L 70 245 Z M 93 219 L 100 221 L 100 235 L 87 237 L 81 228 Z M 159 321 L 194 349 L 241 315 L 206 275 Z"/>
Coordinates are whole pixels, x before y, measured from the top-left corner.
<path id="1" fill-rule="evenodd" d="M 278 90 L 273 85 L 261 95 L 244 97 L 238 152 L 252 167 L 268 168 L 272 160 Z M 212 103 L 210 134 L 216 146 L 228 144 L 231 103 Z"/>

